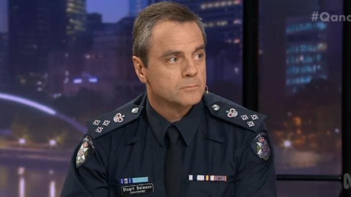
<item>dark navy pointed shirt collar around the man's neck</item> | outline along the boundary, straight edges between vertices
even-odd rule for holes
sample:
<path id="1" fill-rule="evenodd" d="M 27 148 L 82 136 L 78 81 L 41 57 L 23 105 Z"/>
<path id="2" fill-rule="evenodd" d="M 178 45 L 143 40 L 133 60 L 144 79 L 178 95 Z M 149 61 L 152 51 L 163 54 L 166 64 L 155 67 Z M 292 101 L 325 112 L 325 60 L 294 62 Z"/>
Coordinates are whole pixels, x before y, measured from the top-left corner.
<path id="1" fill-rule="evenodd" d="M 203 112 L 203 103 L 202 101 L 193 106 L 193 108 L 189 111 L 189 113 L 183 117 L 178 122 L 173 123 L 180 131 L 185 143 L 189 146 L 192 141 L 195 132 L 199 126 L 201 114 Z M 159 115 L 150 105 L 149 100 L 146 100 L 146 114 L 149 126 L 154 133 L 156 140 L 162 146 L 164 143 L 164 137 L 166 134 L 167 128 L 172 125 L 166 119 L 164 119 L 161 115 Z"/>

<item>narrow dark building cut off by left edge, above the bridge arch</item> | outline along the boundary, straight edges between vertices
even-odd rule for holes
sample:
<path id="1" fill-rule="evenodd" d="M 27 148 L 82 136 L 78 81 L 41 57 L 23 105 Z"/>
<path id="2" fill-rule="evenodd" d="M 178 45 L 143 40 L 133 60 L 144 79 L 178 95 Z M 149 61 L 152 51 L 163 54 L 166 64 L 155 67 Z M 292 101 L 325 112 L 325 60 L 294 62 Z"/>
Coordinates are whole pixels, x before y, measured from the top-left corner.
<path id="1" fill-rule="evenodd" d="M 0 33 L 0 91 L 9 88 L 9 36 Z"/>

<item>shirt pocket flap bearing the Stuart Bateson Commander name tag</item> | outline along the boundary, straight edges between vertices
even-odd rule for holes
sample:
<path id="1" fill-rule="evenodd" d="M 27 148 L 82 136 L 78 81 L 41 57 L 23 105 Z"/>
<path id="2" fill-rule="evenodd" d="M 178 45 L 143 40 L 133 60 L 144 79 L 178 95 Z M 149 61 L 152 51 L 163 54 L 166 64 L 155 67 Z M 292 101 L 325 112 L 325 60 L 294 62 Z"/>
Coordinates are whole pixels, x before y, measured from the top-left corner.
<path id="1" fill-rule="evenodd" d="M 152 188 L 150 186 L 152 185 Z M 165 197 L 163 181 L 133 183 L 133 184 L 111 184 L 110 196 L 140 196 L 140 197 Z"/>

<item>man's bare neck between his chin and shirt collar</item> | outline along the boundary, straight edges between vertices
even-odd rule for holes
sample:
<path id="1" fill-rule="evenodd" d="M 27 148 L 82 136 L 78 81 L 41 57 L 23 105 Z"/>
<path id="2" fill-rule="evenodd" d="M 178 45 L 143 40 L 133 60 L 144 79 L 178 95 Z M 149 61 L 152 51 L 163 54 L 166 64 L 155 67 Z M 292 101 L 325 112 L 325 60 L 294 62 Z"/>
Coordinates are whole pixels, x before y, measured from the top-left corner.
<path id="1" fill-rule="evenodd" d="M 181 105 L 172 105 L 164 100 L 155 99 L 153 96 L 148 94 L 148 100 L 151 107 L 164 119 L 170 123 L 177 122 L 181 120 L 188 112 L 192 109 L 193 106 L 181 106 Z"/>

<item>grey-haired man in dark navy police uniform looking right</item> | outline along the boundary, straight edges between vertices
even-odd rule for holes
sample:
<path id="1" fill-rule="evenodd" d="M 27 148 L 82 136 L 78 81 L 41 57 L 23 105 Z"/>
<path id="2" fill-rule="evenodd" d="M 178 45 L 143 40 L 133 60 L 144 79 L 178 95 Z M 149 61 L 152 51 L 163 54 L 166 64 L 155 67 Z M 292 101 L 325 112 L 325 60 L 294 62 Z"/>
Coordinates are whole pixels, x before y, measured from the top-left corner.
<path id="1" fill-rule="evenodd" d="M 176 3 L 140 12 L 133 63 L 147 91 L 87 121 L 62 197 L 273 197 L 265 116 L 205 92 L 206 34 Z"/>

